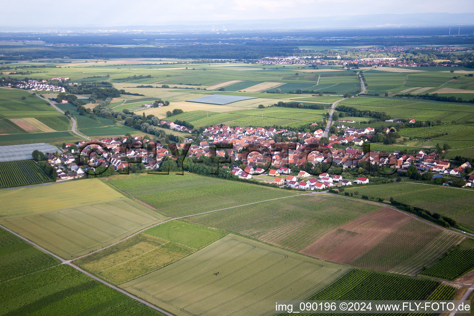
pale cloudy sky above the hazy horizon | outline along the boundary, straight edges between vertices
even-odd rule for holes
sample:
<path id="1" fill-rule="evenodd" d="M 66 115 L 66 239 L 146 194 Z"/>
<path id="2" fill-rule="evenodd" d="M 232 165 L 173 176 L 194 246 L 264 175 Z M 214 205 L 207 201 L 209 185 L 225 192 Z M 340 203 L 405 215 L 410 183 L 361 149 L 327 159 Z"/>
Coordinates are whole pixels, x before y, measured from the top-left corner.
<path id="1" fill-rule="evenodd" d="M 163 25 L 186 21 L 378 13 L 474 12 L 473 0 L 22 0 L 3 1 L 3 27 Z M 17 14 L 14 14 L 18 12 Z M 9 13 L 9 14 L 5 14 Z"/>

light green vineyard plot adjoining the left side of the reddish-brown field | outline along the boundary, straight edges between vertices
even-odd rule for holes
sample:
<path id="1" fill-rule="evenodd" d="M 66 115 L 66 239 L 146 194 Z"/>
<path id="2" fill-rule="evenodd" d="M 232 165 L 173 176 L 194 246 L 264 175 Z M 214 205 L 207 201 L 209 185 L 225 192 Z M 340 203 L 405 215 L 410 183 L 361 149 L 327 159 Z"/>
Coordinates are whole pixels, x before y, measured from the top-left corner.
<path id="1" fill-rule="evenodd" d="M 189 220 L 294 251 L 378 207 L 338 197 L 298 196 L 191 217 Z"/>

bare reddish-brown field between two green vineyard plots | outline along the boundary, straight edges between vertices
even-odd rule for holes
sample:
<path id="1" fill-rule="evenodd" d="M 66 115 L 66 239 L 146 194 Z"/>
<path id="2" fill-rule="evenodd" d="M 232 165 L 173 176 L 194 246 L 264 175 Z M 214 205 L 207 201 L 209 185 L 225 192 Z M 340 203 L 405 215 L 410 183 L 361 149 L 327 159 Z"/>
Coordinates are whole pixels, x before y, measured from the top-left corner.
<path id="1" fill-rule="evenodd" d="M 303 249 L 301 253 L 347 264 L 411 220 L 411 217 L 393 209 L 381 208 L 337 227 Z"/>

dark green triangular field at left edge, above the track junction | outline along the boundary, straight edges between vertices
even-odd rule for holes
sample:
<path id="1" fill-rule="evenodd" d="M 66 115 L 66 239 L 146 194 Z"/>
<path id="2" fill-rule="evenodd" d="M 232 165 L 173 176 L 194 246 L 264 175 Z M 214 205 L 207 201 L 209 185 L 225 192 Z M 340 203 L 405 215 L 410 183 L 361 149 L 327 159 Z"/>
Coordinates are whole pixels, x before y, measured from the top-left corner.
<path id="1" fill-rule="evenodd" d="M 58 263 L 53 256 L 0 228 L 0 282 Z"/>

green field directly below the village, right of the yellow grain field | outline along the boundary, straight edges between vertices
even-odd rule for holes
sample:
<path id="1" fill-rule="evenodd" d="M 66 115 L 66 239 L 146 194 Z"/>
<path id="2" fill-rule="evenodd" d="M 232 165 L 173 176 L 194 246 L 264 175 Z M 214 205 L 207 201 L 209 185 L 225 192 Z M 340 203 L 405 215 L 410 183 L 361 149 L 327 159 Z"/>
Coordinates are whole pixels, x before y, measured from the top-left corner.
<path id="1" fill-rule="evenodd" d="M 131 176 L 109 183 L 172 217 L 298 194 L 190 173 Z"/>

